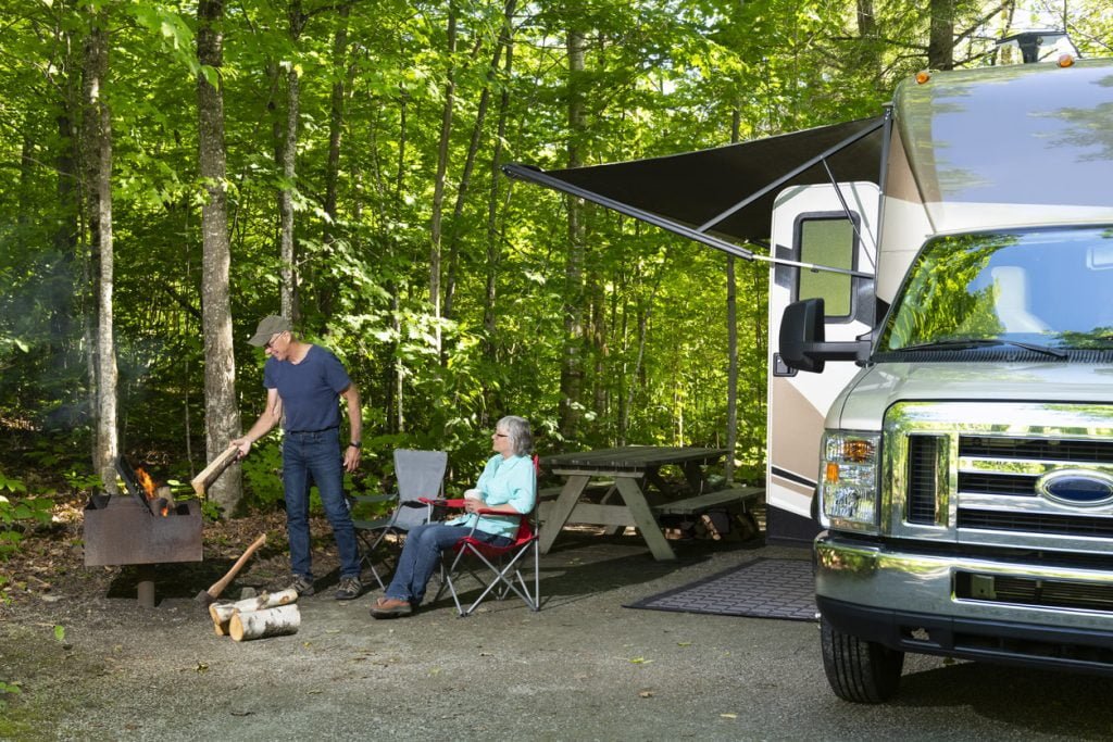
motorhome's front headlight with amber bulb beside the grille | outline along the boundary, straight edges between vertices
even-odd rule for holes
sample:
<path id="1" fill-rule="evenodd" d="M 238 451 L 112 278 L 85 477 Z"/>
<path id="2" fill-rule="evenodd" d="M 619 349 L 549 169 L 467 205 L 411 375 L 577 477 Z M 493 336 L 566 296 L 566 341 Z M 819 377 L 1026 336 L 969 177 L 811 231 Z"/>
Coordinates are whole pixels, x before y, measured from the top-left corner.
<path id="1" fill-rule="evenodd" d="M 820 461 L 819 502 L 824 525 L 877 533 L 876 433 L 828 432 Z"/>

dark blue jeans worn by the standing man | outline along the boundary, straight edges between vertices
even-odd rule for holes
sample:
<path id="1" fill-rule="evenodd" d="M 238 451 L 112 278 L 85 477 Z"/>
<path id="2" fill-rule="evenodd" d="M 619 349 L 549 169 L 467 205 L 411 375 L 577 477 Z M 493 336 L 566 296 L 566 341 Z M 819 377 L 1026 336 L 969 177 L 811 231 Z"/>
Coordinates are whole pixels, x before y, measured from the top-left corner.
<path id="1" fill-rule="evenodd" d="M 341 557 L 341 576 L 359 576 L 359 547 L 352 511 L 344 496 L 344 459 L 339 429 L 287 432 L 282 446 L 283 485 L 286 489 L 286 534 L 294 574 L 313 578 L 309 556 L 309 486 L 317 485 L 325 516 L 333 526 Z"/>

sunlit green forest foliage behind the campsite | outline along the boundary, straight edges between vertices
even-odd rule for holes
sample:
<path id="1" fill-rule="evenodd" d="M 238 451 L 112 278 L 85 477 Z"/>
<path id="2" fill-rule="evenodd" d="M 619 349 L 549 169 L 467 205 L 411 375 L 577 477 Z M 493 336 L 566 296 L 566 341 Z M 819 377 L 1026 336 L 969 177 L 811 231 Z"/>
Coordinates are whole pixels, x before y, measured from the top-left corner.
<path id="1" fill-rule="evenodd" d="M 894 83 L 926 63 L 932 6 L 873 4 L 864 19 L 856 4 L 835 0 L 519 3 L 508 66 L 504 50 L 495 55 L 502 2 L 452 4 L 450 50 L 445 4 L 420 12 L 407 3 L 306 4 L 305 27 L 292 33 L 285 4 L 246 0 L 226 11 L 219 70 L 197 60 L 196 3 L 105 4 L 116 13 L 101 92 L 112 113 L 121 448 L 151 453 L 179 477 L 205 449 L 211 359 L 199 290 L 207 195 L 197 165 L 197 76 L 224 93 L 220 186 L 245 421 L 263 392 L 262 356 L 243 339 L 279 307 L 276 204 L 289 188 L 298 329 L 337 353 L 364 400 L 368 446 L 364 467 L 346 479 L 351 492 L 386 486 L 396 446 L 449 451 L 453 482 L 467 483 L 489 453 L 487 432 L 509 413 L 533 423 L 542 453 L 725 443 L 723 258 L 590 208 L 584 260 L 570 278 L 567 201 L 511 184 L 498 165 L 565 167 L 570 144 L 588 164 L 653 157 L 876 115 Z M 954 3 L 956 56 L 973 59 L 984 38 L 1003 30 L 1004 16 L 989 12 L 997 6 Z M 0 428 L 27 432 L 14 453 L 20 465 L 75 472 L 92 449 L 95 423 L 88 363 L 99 264 L 86 229 L 91 215 L 79 201 L 91 188 L 75 157 L 88 13 L 81 3 L 0 0 L 0 8 L 8 123 L 0 157 L 11 170 L 0 185 Z M 1070 21 L 1086 51 L 1107 53 L 1113 27 L 1099 11 L 1096 0 L 1072 3 Z M 570 29 L 585 39 L 575 76 Z M 344 46 L 336 44 L 341 30 Z M 288 69 L 298 70 L 299 93 L 292 181 L 280 164 Z M 575 132 L 573 90 L 584 118 Z M 434 301 L 431 225 L 445 120 Z M 737 270 L 735 455 L 740 476 L 757 478 L 767 274 Z M 582 297 L 583 320 L 570 332 L 573 297 Z M 560 374 L 571 352 L 583 359 L 583 392 L 571 400 L 583 423 L 562 435 Z M 278 468 L 272 444 L 244 462 L 252 504 L 280 502 Z M 67 478 L 79 489 L 100 486 Z"/>

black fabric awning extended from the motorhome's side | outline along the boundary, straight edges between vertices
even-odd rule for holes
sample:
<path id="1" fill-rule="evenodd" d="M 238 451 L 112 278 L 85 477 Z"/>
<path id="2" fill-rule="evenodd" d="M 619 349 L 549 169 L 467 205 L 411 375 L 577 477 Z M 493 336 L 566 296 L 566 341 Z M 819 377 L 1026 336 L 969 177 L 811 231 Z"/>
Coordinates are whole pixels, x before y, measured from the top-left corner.
<path id="1" fill-rule="evenodd" d="M 749 259 L 756 256 L 716 236 L 768 240 L 774 199 L 788 186 L 877 182 L 881 130 L 881 118 L 859 119 L 669 157 L 548 172 L 506 165 L 503 171 Z"/>

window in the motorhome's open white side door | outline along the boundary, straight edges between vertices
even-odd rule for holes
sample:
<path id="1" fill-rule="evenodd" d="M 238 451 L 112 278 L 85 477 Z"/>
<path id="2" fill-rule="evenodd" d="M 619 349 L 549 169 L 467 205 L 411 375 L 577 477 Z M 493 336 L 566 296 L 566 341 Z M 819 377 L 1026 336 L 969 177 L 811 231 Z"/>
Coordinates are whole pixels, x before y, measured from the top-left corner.
<path id="1" fill-rule="evenodd" d="M 798 224 L 800 261 L 833 268 L 854 268 L 854 226 L 845 217 L 802 218 Z M 850 276 L 800 269 L 797 299 L 823 298 L 828 319 L 851 318 Z"/>

